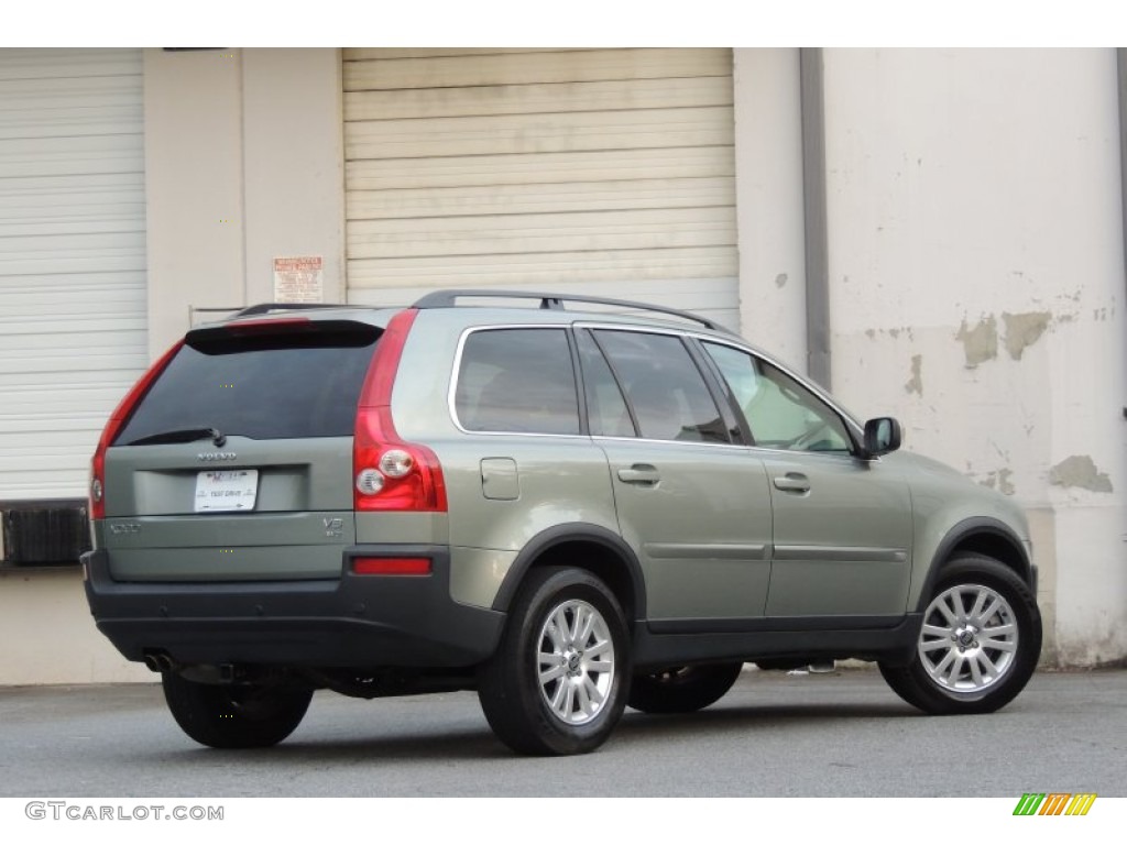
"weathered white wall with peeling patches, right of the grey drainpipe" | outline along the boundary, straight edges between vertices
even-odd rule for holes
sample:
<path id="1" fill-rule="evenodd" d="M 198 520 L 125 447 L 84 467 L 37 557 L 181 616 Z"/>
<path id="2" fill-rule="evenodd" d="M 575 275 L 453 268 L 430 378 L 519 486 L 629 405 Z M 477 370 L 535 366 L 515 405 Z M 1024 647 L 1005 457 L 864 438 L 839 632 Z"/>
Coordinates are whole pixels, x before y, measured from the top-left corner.
<path id="1" fill-rule="evenodd" d="M 827 51 L 835 392 L 1017 497 L 1047 653 L 1127 656 L 1113 51 Z"/>

